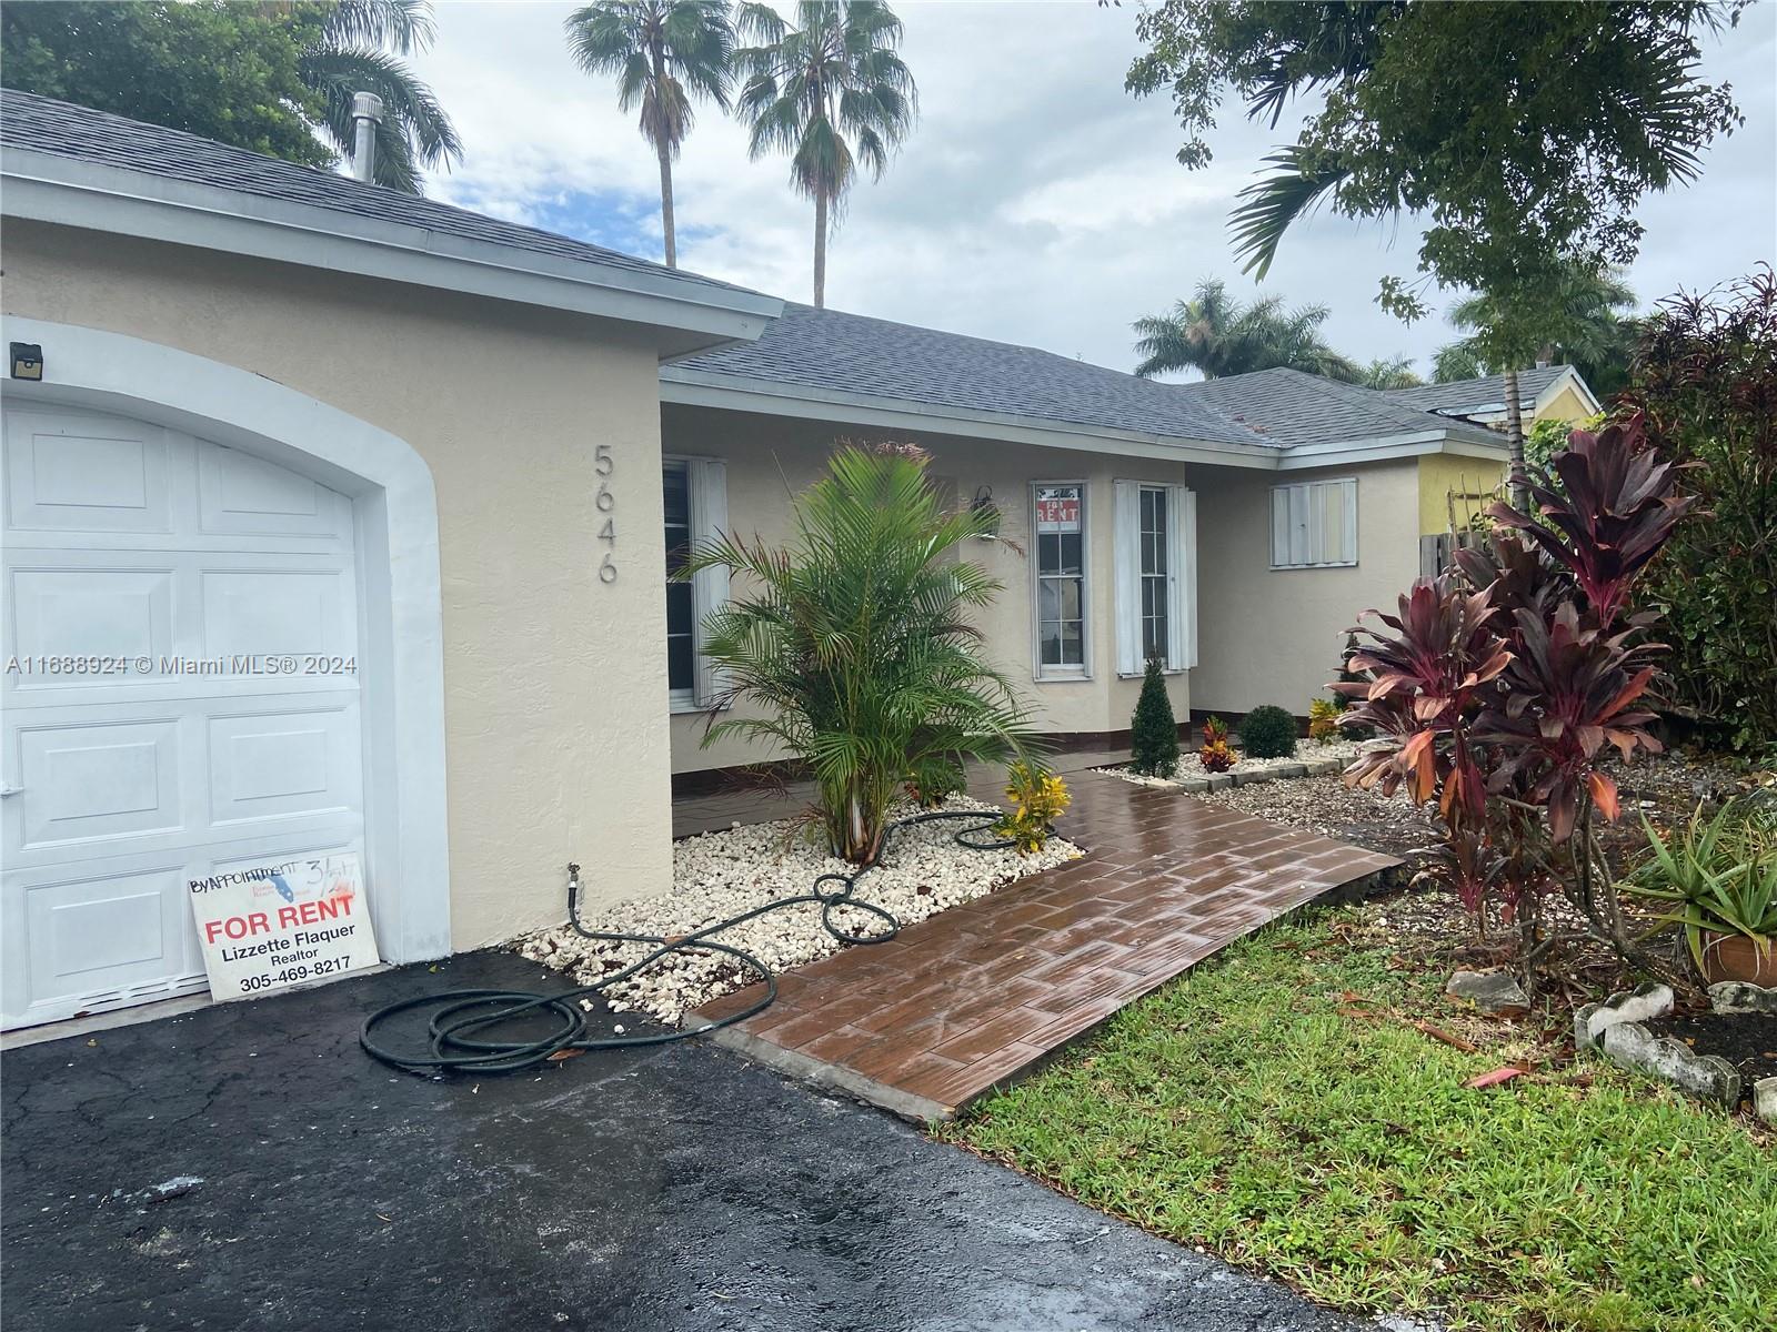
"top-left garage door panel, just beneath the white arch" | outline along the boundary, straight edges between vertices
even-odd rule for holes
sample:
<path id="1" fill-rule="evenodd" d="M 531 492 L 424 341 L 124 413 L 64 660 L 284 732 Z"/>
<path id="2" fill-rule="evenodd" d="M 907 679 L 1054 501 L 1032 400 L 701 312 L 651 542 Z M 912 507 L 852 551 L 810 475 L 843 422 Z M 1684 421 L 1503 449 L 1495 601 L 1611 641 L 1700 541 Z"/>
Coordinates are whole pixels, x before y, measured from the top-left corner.
<path id="1" fill-rule="evenodd" d="M 14 529 L 172 529 L 167 432 L 114 417 L 7 416 L 7 519 Z"/>

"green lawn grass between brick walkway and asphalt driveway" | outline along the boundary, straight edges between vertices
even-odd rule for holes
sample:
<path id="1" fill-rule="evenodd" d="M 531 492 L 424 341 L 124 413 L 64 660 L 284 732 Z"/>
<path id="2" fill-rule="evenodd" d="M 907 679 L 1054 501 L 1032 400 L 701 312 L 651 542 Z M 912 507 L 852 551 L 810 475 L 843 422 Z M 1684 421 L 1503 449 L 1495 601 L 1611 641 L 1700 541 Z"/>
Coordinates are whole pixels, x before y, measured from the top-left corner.
<path id="1" fill-rule="evenodd" d="M 1493 1090 L 1441 977 L 1279 924 L 942 1130 L 1091 1206 L 1349 1311 L 1454 1327 L 1777 1327 L 1777 1162 L 1601 1060 Z M 1342 1009 L 1345 1012 L 1342 1012 Z"/>

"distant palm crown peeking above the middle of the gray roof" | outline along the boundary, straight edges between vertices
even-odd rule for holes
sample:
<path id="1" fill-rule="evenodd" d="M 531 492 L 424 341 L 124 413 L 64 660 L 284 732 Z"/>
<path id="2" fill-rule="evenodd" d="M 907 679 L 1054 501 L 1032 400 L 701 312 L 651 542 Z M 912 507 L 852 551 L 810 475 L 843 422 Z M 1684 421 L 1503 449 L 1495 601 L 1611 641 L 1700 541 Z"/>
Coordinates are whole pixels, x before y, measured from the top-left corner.
<path id="1" fill-rule="evenodd" d="M 1146 378 L 1196 369 L 1214 380 L 1287 366 L 1356 382 L 1363 369 L 1320 337 L 1327 314 L 1326 305 L 1285 311 L 1281 297 L 1240 305 L 1221 281 L 1205 279 L 1169 314 L 1136 320 L 1136 350 L 1143 355 L 1136 373 Z"/>

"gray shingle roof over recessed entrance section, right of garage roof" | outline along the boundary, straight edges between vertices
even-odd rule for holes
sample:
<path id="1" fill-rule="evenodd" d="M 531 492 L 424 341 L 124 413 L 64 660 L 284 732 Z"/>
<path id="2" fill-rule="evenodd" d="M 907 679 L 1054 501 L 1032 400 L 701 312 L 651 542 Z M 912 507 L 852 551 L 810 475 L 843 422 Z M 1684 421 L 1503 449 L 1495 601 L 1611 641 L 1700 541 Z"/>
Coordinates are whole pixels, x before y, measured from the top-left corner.
<path id="1" fill-rule="evenodd" d="M 1214 444 L 1292 448 L 1429 430 L 1498 442 L 1478 426 L 1294 369 L 1160 384 L 1034 346 L 812 305 L 785 305 L 757 343 L 702 352 L 663 375 L 764 380 Z"/>

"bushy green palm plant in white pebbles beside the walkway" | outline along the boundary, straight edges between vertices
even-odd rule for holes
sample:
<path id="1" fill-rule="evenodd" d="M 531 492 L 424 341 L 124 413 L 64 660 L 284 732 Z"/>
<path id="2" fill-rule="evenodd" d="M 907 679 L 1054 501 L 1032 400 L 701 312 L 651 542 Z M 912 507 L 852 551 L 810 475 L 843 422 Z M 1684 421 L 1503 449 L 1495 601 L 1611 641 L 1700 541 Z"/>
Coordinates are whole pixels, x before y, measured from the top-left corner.
<path id="1" fill-rule="evenodd" d="M 846 860 L 874 860 L 903 783 L 933 789 L 965 760 L 1031 749 L 1027 710 L 967 618 L 1000 583 L 954 558 L 984 522 L 945 510 L 917 449 L 848 446 L 796 497 L 787 545 L 718 535 L 681 574 L 723 567 L 752 588 L 705 620 L 704 652 L 727 682 L 718 707 L 762 716 L 716 721 L 704 744 L 768 741 L 801 758 Z"/>

